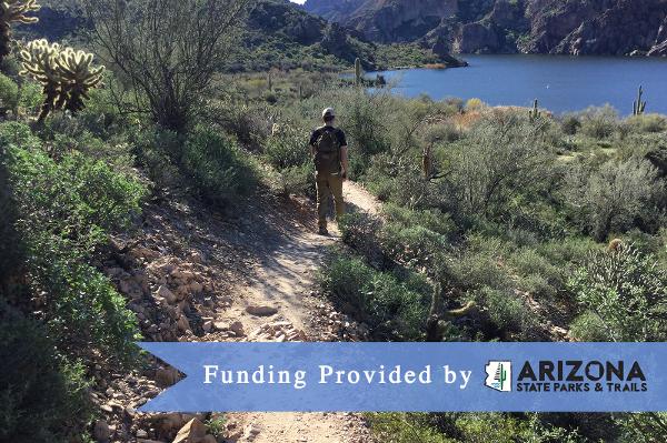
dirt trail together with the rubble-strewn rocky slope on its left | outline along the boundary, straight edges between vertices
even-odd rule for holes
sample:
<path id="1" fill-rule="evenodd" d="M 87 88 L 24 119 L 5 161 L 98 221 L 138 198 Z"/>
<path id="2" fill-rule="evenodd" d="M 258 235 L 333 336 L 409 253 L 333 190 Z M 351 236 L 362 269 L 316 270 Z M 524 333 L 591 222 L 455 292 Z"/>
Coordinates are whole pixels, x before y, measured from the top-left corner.
<path id="1" fill-rule="evenodd" d="M 378 202 L 356 183 L 351 210 L 377 213 Z M 336 312 L 319 293 L 317 272 L 328 246 L 316 234 L 312 203 L 258 195 L 242 212 L 212 213 L 166 195 L 146 208 L 138 232 L 113 239 L 99 265 L 129 300 L 148 341 L 361 341 L 364 324 Z M 152 360 L 129 375 L 100 362 L 92 397 L 103 416 L 94 437 L 107 442 L 368 442 L 358 414 L 229 413 L 220 433 L 205 423 L 218 415 L 136 411 L 181 376 Z"/>

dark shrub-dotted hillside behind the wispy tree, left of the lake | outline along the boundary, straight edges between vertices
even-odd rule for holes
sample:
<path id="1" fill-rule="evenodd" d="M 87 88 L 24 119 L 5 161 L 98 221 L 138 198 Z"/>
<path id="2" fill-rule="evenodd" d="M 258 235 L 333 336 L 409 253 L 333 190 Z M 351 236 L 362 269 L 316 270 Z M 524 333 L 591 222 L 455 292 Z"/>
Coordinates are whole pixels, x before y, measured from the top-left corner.
<path id="1" fill-rule="evenodd" d="M 242 44 L 226 71 L 306 70 L 349 67 L 357 57 L 367 70 L 425 63 L 458 64 L 447 52 L 417 44 L 377 44 L 361 34 L 309 14 L 288 0 L 259 0 L 242 27 Z M 83 38 L 86 20 L 69 2 L 47 1 L 37 12 L 39 22 L 19 27 L 18 37 L 49 40 Z"/>

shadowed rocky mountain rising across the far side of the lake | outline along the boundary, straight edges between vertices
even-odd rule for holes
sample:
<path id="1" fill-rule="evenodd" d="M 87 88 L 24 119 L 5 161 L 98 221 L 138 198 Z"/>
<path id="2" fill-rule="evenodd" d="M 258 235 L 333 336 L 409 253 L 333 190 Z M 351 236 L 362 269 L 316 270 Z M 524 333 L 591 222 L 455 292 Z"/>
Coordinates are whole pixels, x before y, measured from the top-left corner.
<path id="1" fill-rule="evenodd" d="M 371 41 L 464 53 L 667 56 L 667 0 L 308 0 Z"/>

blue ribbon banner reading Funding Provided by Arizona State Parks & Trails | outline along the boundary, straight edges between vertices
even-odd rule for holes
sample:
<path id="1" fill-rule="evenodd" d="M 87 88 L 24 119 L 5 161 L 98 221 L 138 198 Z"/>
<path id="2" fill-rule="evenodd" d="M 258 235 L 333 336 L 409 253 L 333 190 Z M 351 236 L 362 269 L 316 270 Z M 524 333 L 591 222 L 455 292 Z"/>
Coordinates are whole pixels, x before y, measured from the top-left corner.
<path id="1" fill-rule="evenodd" d="M 140 343 L 142 412 L 667 411 L 667 343 Z"/>

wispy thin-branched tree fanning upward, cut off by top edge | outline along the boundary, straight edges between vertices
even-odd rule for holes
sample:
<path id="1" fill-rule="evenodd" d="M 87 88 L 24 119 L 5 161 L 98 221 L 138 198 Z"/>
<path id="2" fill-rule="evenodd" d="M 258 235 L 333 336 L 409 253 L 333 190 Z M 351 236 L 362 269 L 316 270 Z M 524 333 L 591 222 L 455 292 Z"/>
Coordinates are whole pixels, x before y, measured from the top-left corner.
<path id="1" fill-rule="evenodd" d="M 80 0 L 100 56 L 137 94 L 139 110 L 186 132 L 231 51 L 252 0 Z"/>

